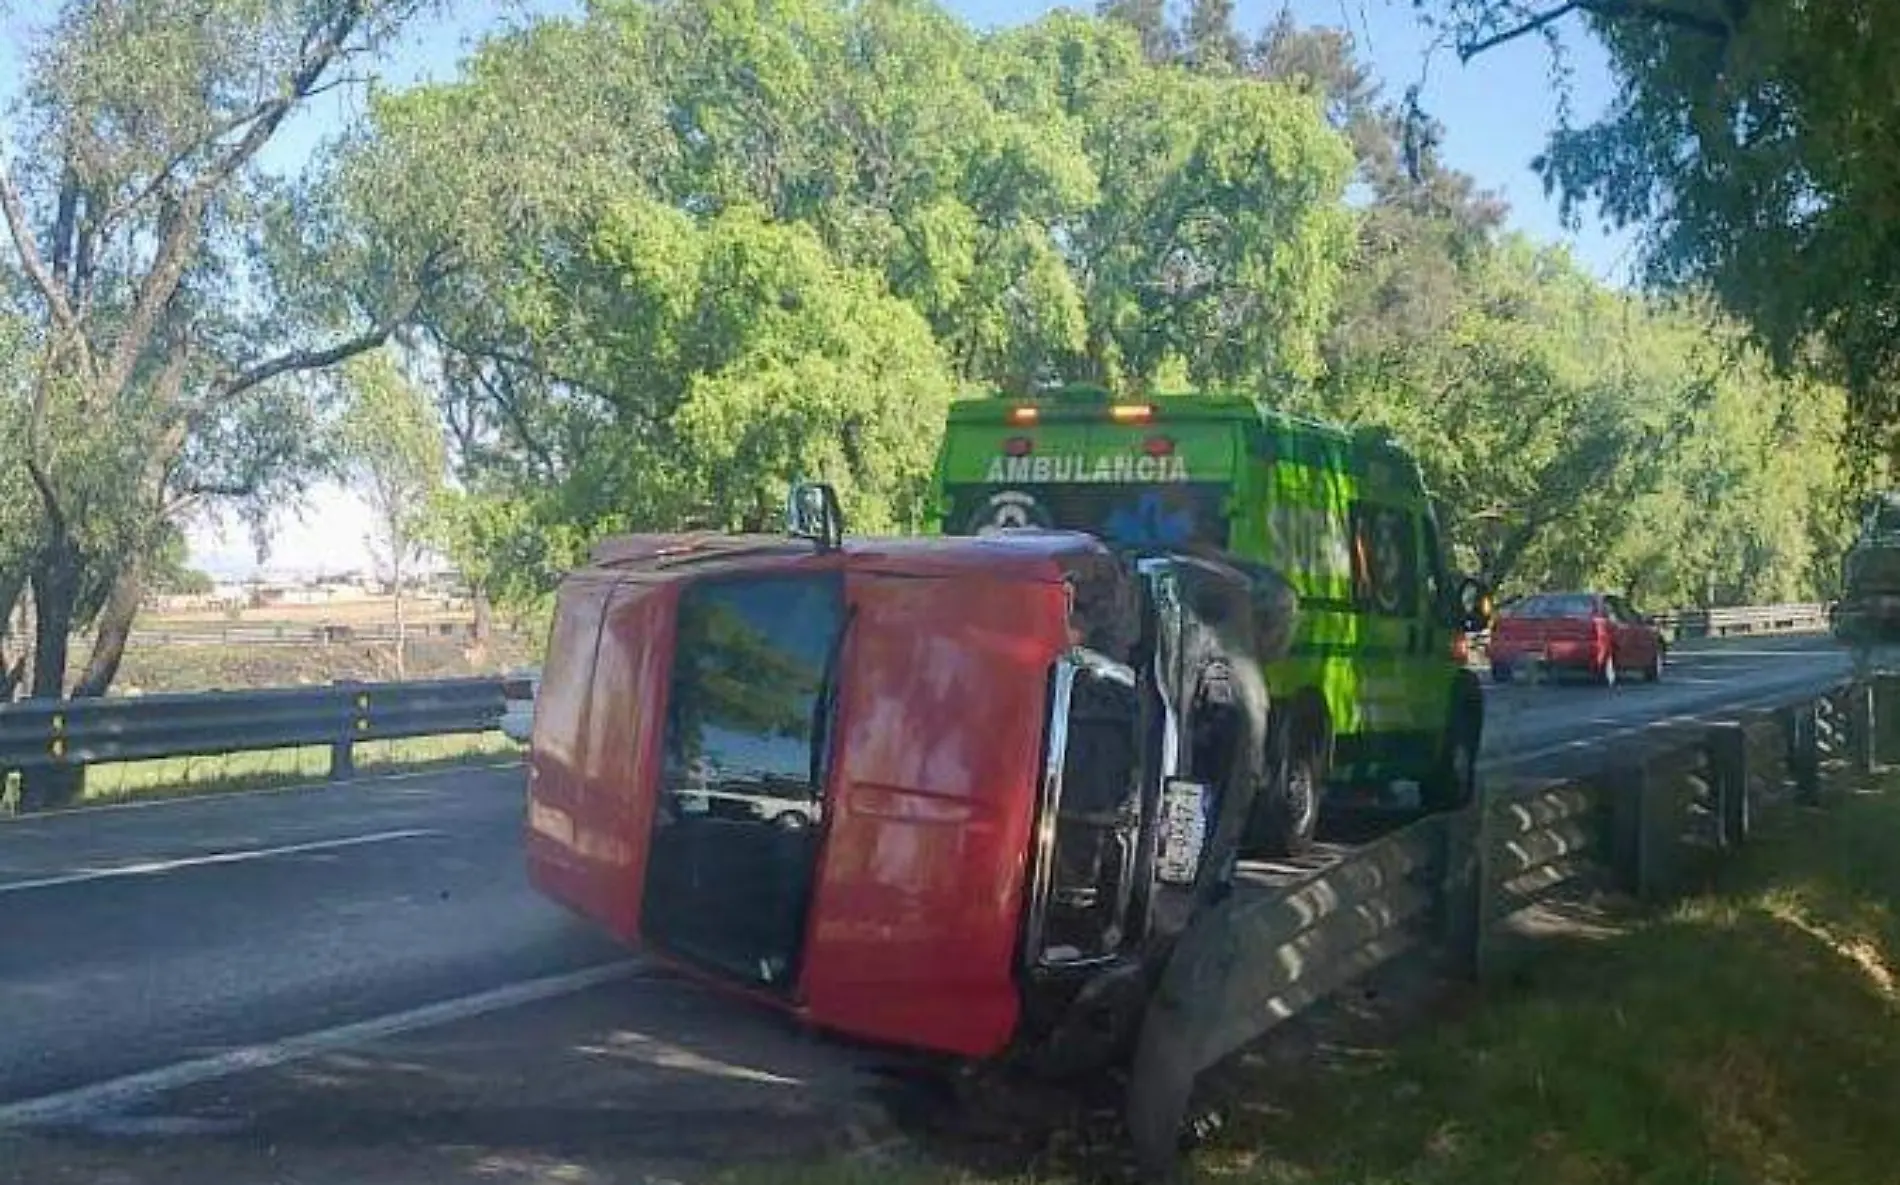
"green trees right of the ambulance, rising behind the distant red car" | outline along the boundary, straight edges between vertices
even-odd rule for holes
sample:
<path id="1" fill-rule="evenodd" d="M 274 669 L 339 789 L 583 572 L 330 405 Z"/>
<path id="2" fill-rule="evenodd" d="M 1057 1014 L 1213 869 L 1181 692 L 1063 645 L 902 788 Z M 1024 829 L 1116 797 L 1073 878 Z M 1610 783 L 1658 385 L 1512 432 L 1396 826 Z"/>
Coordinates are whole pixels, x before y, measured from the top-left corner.
<path id="1" fill-rule="evenodd" d="M 1497 201 L 1442 165 L 1434 127 L 1379 103 L 1341 34 L 1281 19 L 1250 68 L 1324 103 L 1370 196 L 1326 372 L 1300 399 L 1419 454 L 1463 564 L 1507 591 L 1651 606 L 1832 594 L 1837 389 L 1778 378 L 1706 302 L 1613 294 L 1499 239 Z"/>

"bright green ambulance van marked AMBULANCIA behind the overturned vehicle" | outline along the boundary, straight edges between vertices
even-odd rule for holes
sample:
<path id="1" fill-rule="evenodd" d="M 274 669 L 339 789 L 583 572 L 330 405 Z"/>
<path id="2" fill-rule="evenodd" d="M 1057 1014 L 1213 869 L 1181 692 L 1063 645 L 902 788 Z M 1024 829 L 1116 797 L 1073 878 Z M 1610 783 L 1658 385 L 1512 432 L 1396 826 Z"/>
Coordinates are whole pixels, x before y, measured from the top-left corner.
<path id="1" fill-rule="evenodd" d="M 1490 594 L 1446 568 L 1417 461 L 1383 433 L 1244 397 L 1115 403 L 1096 387 L 952 406 L 937 471 L 944 534 L 1070 528 L 1129 547 L 1216 547 L 1300 598 L 1273 701 L 1254 847 L 1311 839 L 1328 792 L 1412 784 L 1469 801 L 1484 695 L 1465 634 Z M 1273 822 L 1264 822 L 1271 818 Z"/>

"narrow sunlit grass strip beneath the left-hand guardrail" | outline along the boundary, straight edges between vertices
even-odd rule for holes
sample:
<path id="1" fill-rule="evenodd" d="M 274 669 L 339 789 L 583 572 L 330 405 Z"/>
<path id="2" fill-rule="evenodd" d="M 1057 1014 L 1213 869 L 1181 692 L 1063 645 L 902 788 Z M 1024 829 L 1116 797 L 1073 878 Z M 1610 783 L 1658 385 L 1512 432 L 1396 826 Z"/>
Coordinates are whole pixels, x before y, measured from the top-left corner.
<path id="1" fill-rule="evenodd" d="M 469 737 L 412 737 L 365 741 L 355 746 L 357 775 L 426 771 L 450 765 L 504 762 L 521 746 L 502 733 Z M 232 794 L 274 786 L 304 786 L 331 775 L 329 746 L 266 748 L 209 758 L 162 758 L 93 765 L 86 771 L 82 807 L 198 794 Z M 0 815 L 11 807 L 11 786 L 0 786 Z"/>

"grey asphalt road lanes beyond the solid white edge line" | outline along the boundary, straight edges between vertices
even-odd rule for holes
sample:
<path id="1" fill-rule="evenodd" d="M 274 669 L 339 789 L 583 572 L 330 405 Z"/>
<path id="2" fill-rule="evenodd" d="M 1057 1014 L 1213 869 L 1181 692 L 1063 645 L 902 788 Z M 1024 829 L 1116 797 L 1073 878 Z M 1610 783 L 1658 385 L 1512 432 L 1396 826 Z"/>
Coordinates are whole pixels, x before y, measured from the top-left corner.
<path id="1" fill-rule="evenodd" d="M 1685 648 L 1659 686 L 1493 687 L 1484 769 L 1564 773 L 1657 720 L 1845 674 L 1839 649 L 1801 638 Z M 526 887 L 521 807 L 519 769 L 477 769 L 0 822 L 0 1119 L 621 961 Z"/>

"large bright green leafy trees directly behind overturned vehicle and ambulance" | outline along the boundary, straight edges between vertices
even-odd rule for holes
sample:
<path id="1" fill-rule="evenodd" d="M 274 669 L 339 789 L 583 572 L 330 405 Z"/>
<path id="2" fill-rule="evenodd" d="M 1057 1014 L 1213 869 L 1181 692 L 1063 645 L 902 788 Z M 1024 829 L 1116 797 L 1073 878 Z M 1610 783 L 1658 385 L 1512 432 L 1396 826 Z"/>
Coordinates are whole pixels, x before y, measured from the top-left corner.
<path id="1" fill-rule="evenodd" d="M 342 163 L 359 237 L 464 264 L 420 317 L 445 532 L 517 610 L 600 534 L 762 528 L 796 479 L 914 528 L 961 386 L 1315 374 L 1349 171 L 1290 87 L 925 0 L 602 4 L 384 97 Z"/>

